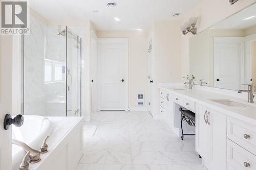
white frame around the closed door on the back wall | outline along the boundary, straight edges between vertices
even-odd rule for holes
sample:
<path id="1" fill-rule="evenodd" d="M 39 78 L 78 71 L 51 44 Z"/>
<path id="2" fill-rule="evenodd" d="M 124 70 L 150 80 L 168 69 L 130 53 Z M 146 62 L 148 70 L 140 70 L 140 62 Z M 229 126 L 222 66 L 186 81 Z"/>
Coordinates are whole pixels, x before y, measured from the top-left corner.
<path id="1" fill-rule="evenodd" d="M 125 83 L 125 106 L 124 110 L 128 111 L 129 110 L 129 38 L 98 38 L 97 41 L 97 111 L 100 111 L 100 94 L 101 94 L 101 75 L 100 75 L 100 68 L 101 68 L 101 63 L 100 63 L 100 50 L 101 50 L 101 45 L 102 44 L 110 44 L 110 43 L 124 43 L 127 45 L 127 55 L 124 57 L 125 61 L 125 78 L 124 83 Z"/>

